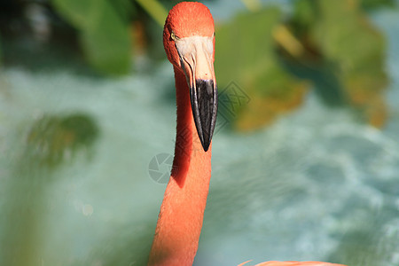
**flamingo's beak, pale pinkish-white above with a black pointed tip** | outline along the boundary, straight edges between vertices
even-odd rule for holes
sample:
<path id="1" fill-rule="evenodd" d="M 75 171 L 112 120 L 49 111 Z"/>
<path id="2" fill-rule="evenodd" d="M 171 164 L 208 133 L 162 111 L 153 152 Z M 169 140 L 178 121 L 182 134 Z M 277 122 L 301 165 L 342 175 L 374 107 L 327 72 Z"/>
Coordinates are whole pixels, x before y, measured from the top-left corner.
<path id="1" fill-rule="evenodd" d="M 181 66 L 190 87 L 192 115 L 205 152 L 214 134 L 217 114 L 213 38 L 191 36 L 176 40 Z"/>

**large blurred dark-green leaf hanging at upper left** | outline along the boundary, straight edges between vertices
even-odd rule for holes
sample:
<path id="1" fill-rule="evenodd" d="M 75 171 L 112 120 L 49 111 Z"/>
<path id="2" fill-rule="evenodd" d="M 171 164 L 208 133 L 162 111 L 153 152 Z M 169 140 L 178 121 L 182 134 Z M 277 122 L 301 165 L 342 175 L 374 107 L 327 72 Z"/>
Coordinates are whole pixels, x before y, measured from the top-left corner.
<path id="1" fill-rule="evenodd" d="M 91 66 L 104 74 L 129 72 L 132 44 L 127 0 L 53 0 L 53 4 L 80 31 L 82 48 Z"/>

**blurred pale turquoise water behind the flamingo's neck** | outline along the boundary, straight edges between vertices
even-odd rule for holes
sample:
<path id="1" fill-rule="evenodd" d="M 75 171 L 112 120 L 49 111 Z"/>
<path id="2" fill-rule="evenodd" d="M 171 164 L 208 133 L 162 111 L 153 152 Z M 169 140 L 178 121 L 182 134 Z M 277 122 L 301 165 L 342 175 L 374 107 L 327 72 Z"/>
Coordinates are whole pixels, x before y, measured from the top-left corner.
<path id="1" fill-rule="evenodd" d="M 364 125 L 310 93 L 270 128 L 220 130 L 195 265 L 399 265 L 399 12 L 374 19 L 388 40 L 387 126 Z M 150 176 L 150 162 L 174 151 L 173 95 L 166 61 L 116 80 L 70 66 L 5 67 L 0 249 L 30 252 L 20 255 L 32 265 L 142 265 L 165 189 Z M 84 117 L 97 137 L 63 150 L 60 163 L 32 168 L 29 132 L 49 115 Z M 38 153 L 49 149 L 39 145 Z"/>

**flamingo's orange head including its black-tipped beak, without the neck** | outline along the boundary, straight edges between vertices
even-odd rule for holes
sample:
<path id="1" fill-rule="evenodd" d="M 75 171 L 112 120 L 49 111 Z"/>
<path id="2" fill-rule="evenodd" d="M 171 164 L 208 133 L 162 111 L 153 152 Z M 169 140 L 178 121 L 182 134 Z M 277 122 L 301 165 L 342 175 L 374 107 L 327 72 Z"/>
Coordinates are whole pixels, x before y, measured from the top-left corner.
<path id="1" fill-rule="evenodd" d="M 169 12 L 163 30 L 169 61 L 185 74 L 190 89 L 192 115 L 204 151 L 215 129 L 215 25 L 204 4 L 182 2 Z"/>

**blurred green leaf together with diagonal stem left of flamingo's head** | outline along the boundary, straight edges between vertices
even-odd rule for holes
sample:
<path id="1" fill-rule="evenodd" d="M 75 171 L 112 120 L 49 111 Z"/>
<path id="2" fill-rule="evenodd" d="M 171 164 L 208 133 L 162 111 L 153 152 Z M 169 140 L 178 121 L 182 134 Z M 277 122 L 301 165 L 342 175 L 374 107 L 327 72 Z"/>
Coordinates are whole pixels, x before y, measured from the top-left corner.
<path id="1" fill-rule="evenodd" d="M 134 23 L 139 17 L 135 2 L 159 24 L 168 14 L 156 0 L 51 1 L 56 11 L 78 30 L 90 65 L 103 74 L 128 74 L 134 46 L 145 43 L 142 23 Z"/>

